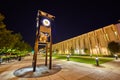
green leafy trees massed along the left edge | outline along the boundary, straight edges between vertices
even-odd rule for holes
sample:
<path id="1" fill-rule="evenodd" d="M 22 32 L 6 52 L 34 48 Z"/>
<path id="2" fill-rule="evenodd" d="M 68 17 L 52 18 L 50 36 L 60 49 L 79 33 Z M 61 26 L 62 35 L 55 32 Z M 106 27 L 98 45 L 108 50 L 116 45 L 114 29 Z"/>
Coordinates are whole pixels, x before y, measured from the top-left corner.
<path id="1" fill-rule="evenodd" d="M 4 15 L 0 13 L 0 54 L 26 54 L 32 51 L 32 47 L 24 42 L 20 33 L 8 30 L 3 20 Z"/>

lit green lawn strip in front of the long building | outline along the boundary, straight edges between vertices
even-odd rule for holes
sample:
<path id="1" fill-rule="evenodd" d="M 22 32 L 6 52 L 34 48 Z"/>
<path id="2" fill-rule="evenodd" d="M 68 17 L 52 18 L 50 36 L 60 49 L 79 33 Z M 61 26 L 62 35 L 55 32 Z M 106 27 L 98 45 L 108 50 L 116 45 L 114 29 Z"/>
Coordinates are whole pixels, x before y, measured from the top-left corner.
<path id="1" fill-rule="evenodd" d="M 66 55 L 54 55 L 53 57 L 56 59 L 67 60 Z M 95 57 L 89 57 L 89 56 L 70 56 L 69 60 L 80 63 L 96 64 Z M 103 64 L 112 60 L 113 58 L 109 58 L 109 57 L 99 57 L 99 64 Z"/>

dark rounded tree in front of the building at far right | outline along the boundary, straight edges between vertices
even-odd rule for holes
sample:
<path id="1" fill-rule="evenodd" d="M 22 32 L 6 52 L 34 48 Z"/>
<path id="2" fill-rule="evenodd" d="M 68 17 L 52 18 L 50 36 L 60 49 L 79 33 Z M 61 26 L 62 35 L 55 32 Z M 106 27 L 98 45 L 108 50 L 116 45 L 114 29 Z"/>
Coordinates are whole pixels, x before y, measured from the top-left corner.
<path id="1" fill-rule="evenodd" d="M 111 53 L 116 54 L 120 52 L 120 44 L 115 41 L 109 42 L 108 49 L 111 51 Z"/>

